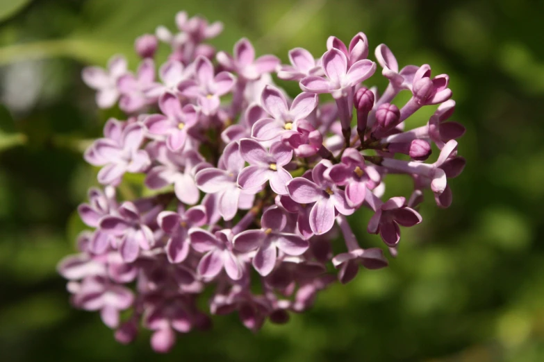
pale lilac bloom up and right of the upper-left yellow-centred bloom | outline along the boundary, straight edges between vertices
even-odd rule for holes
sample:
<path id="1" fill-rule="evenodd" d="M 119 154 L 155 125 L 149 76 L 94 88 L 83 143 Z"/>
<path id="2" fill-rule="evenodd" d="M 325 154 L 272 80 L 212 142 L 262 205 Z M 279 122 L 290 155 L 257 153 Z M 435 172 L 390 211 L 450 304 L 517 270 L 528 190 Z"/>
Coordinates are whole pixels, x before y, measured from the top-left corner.
<path id="1" fill-rule="evenodd" d="M 236 79 L 227 71 L 214 76 L 213 64 L 208 58 L 199 56 L 195 60 L 195 80 L 185 80 L 178 85 L 179 92 L 195 98 L 202 113 L 215 114 L 220 106 L 220 96 L 231 91 Z"/>

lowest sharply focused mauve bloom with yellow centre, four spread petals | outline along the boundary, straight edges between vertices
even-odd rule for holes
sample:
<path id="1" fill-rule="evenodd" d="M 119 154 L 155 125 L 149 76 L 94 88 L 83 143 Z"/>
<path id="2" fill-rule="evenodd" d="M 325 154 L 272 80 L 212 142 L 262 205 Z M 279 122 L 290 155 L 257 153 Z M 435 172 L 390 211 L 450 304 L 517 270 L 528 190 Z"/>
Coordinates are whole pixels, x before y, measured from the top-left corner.
<path id="1" fill-rule="evenodd" d="M 277 260 L 277 249 L 286 255 L 302 255 L 310 244 L 296 234 L 284 232 L 286 215 L 278 207 L 267 209 L 261 218 L 261 230 L 246 230 L 234 236 L 234 248 L 240 252 L 257 250 L 253 266 L 259 274 L 272 272 Z"/>

